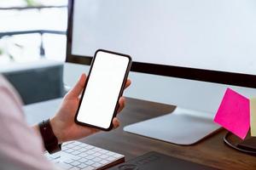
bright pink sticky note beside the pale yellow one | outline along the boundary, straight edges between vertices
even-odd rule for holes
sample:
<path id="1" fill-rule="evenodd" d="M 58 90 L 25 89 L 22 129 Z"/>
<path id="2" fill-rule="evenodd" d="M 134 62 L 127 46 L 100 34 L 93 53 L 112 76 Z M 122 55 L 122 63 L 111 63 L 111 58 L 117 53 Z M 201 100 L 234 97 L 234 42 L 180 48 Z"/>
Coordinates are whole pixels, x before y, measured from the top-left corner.
<path id="1" fill-rule="evenodd" d="M 228 88 L 214 118 L 220 126 L 241 139 L 245 139 L 250 127 L 250 101 Z"/>

